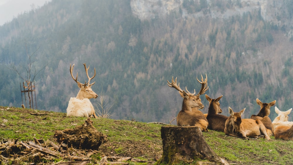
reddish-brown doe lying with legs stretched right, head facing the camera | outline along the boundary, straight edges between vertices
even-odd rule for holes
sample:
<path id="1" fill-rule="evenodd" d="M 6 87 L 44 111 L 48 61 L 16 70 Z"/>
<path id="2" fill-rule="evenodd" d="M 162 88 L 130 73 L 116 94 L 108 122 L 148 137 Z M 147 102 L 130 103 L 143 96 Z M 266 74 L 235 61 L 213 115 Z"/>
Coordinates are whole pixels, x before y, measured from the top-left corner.
<path id="1" fill-rule="evenodd" d="M 265 136 L 265 139 L 270 140 L 266 132 L 265 125 L 256 119 L 242 119 L 241 115 L 244 113 L 245 108 L 240 112 L 234 112 L 231 107 L 229 107 L 230 117 L 226 120 L 224 132 L 228 136 L 241 137 L 248 139 L 248 137 L 259 137 L 261 135 Z"/>

